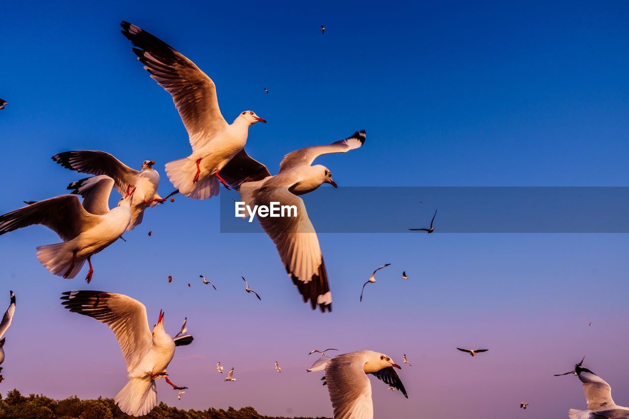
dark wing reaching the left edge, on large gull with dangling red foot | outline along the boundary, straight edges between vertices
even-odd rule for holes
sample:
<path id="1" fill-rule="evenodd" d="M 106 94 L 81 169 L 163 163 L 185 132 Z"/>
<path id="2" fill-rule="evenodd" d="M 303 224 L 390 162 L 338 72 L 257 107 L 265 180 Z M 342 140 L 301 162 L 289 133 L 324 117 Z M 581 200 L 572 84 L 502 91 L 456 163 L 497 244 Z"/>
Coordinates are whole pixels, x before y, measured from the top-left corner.
<path id="1" fill-rule="evenodd" d="M 0 215 L 0 235 L 18 228 L 41 224 L 67 242 L 98 222 L 99 216 L 87 212 L 81 205 L 79 197 L 61 195 Z"/>

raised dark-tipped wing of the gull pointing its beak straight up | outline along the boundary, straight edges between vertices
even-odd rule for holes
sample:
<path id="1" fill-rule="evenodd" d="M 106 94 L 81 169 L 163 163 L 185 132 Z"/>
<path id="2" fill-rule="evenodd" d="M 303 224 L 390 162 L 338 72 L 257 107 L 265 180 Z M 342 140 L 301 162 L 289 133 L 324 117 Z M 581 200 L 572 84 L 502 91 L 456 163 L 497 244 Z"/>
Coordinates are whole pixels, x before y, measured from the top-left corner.
<path id="1" fill-rule="evenodd" d="M 138 365 L 153 345 L 147 308 L 140 301 L 103 291 L 67 291 L 61 299 L 73 313 L 90 316 L 109 326 L 120 344 L 127 372 Z"/>

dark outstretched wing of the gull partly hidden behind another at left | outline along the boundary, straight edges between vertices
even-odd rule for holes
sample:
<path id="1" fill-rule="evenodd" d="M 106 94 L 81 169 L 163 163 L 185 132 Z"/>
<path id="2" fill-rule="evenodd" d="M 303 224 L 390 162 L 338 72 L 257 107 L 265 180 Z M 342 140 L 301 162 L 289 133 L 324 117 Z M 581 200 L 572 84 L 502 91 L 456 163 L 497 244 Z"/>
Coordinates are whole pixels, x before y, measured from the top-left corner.
<path id="1" fill-rule="evenodd" d="M 126 188 L 135 183 L 140 174 L 138 170 L 131 169 L 113 155 L 93 150 L 77 150 L 63 152 L 52 156 L 58 164 L 79 173 L 88 173 L 96 176 L 106 175 L 116 182 L 116 190 L 125 196 Z M 68 189 L 71 189 L 68 187 Z"/>

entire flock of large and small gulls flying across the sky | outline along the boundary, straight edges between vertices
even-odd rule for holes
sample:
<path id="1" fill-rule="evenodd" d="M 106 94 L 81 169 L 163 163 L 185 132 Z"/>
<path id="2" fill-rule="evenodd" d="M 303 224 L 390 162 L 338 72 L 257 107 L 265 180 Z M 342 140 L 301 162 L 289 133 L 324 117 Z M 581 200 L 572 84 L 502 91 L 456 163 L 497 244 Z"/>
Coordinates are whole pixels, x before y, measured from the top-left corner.
<path id="1" fill-rule="evenodd" d="M 64 278 L 74 278 L 87 261 L 89 270 L 86 282 L 94 276 L 91 257 L 118 239 L 125 240 L 123 233 L 133 230 L 143 220 L 144 211 L 181 193 L 188 198 L 208 199 L 216 196 L 221 184 L 226 189 L 235 189 L 246 204 L 268 205 L 271 201 L 295 205 L 296 217 L 259 218 L 264 231 L 276 244 L 282 264 L 288 276 L 297 286 L 304 303 L 311 308 L 331 311 L 332 297 L 328 284 L 323 255 L 315 229 L 308 218 L 302 194 L 314 191 L 324 183 L 337 187 L 330 170 L 323 165 L 312 165 L 323 154 L 345 153 L 360 148 L 366 139 L 364 130 L 329 145 L 301 148 L 284 156 L 279 172 L 271 175 L 267 167 L 252 159 L 245 152 L 249 128 L 255 123 L 266 123 L 253 111 L 243 111 L 233 122 L 227 123 L 221 115 L 214 82 L 191 60 L 177 52 L 167 43 L 138 26 L 123 21 L 124 36 L 133 44 L 133 52 L 150 73 L 150 77 L 172 96 L 175 108 L 186 127 L 191 145 L 191 154 L 165 165 L 165 171 L 175 190 L 162 198 L 157 192 L 159 173 L 153 169 L 154 160 L 144 160 L 140 170 L 128 165 L 103 151 L 76 150 L 55 154 L 52 160 L 70 170 L 91 174 L 69 184 L 70 194 L 55 196 L 43 201 L 25 201 L 26 206 L 0 216 L 0 235 L 26 226 L 40 224 L 57 233 L 60 243 L 37 247 L 37 258 L 48 271 Z M 321 25 L 321 33 L 325 34 Z M 269 93 L 264 88 L 266 94 Z M 0 99 L 0 109 L 6 105 Z M 109 208 L 112 189 L 121 194 L 116 208 Z M 79 199 L 79 196 L 82 197 Z M 420 201 L 421 202 L 421 201 Z M 435 231 L 433 225 L 437 210 L 429 228 L 410 228 L 413 231 Z M 150 236 L 152 232 L 148 232 Z M 391 264 L 378 267 L 362 286 L 362 301 L 365 286 L 376 282 L 376 272 Z M 206 285 L 216 286 L 199 276 Z M 172 277 L 168 277 L 169 282 Z M 260 295 L 249 288 L 245 277 L 245 291 Z M 406 271 L 402 279 L 408 279 Z M 190 284 L 188 284 L 190 286 Z M 0 364 L 4 362 L 4 333 L 8 330 L 15 312 L 15 294 L 11 291 L 8 310 L 0 323 Z M 145 306 L 129 296 L 104 291 L 67 291 L 62 293 L 62 305 L 73 313 L 92 317 L 106 324 L 114 333 L 126 363 L 128 383 L 114 397 L 121 410 L 129 415 L 146 415 L 157 405 L 156 381 L 165 382 L 177 391 L 181 399 L 185 386 L 172 383 L 167 367 L 174 357 L 175 347 L 189 345 L 194 337 L 187 333 L 187 318 L 181 329 L 171 337 L 164 329 L 164 312 L 160 310 L 157 322 L 149 327 Z M 593 323 L 589 324 L 590 326 Z M 472 357 L 487 352 L 487 349 L 458 350 Z M 338 349 L 314 349 L 319 354 L 306 371 L 323 371 L 321 378 L 327 386 L 335 418 L 373 418 L 373 403 L 369 375 L 376 376 L 392 391 L 404 388 L 396 364 L 386 354 L 372 350 L 360 350 L 334 357 L 326 352 Z M 583 360 L 574 370 L 562 376 L 574 374 L 583 384 L 587 399 L 587 410 L 569 410 L 571 419 L 629 419 L 629 408 L 618 406 L 611 399 L 611 388 L 601 377 L 582 366 Z M 411 366 L 406 354 L 403 363 Z M 216 370 L 223 374 L 218 362 Z M 282 372 L 279 363 L 275 370 Z M 0 373 L 2 367 L 0 367 Z M 3 376 L 0 374 L 0 383 Z M 232 367 L 224 381 L 236 381 Z M 528 403 L 521 402 L 526 409 Z"/>

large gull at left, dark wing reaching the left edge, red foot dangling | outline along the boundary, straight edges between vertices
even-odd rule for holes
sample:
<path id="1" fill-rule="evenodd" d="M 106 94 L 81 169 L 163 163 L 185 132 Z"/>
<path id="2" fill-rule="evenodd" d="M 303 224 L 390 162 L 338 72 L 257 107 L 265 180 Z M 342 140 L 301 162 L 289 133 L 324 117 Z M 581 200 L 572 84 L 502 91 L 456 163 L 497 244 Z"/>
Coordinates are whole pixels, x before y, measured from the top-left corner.
<path id="1" fill-rule="evenodd" d="M 118 207 L 109 210 L 109 194 L 114 180 L 96 176 L 84 182 L 75 194 L 55 196 L 0 215 L 0 235 L 33 224 L 50 228 L 62 243 L 37 247 L 37 259 L 52 274 L 64 278 L 77 276 L 84 262 L 89 263 L 86 281 L 92 280 L 94 268 L 91 257 L 116 242 L 131 221 L 131 199 L 134 189 L 129 186 Z"/>

